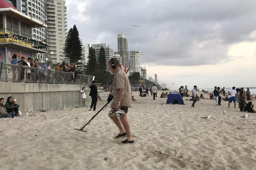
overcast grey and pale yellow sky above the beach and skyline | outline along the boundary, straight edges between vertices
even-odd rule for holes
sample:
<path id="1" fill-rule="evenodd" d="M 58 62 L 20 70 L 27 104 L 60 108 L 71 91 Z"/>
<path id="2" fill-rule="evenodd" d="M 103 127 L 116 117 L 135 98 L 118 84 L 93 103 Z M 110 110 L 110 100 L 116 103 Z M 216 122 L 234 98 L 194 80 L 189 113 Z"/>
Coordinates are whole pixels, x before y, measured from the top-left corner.
<path id="1" fill-rule="evenodd" d="M 83 43 L 117 34 L 141 51 L 147 75 L 181 85 L 256 86 L 256 0 L 66 0 L 68 26 Z M 139 25 L 134 27 L 132 25 Z M 173 85 L 173 84 L 174 85 Z"/>

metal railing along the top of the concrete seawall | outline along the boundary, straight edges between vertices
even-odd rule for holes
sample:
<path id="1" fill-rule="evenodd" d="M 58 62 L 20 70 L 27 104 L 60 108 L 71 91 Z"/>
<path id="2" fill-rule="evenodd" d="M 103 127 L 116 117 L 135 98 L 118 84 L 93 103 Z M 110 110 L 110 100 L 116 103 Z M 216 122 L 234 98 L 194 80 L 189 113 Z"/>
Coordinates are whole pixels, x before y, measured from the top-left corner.
<path id="1" fill-rule="evenodd" d="M 94 76 L 0 62 L 0 81 L 53 84 L 91 84 Z"/>

